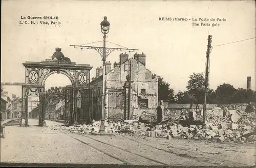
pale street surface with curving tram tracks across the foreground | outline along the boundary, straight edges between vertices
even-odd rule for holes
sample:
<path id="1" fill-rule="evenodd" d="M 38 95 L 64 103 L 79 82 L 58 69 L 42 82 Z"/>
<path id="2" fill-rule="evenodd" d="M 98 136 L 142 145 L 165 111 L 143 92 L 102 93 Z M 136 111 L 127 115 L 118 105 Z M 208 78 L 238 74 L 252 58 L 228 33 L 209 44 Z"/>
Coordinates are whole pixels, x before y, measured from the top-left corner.
<path id="1" fill-rule="evenodd" d="M 47 125 L 61 125 L 46 121 Z M 1 166 L 254 166 L 255 144 L 219 144 L 188 139 L 63 133 L 50 127 L 8 126 L 1 138 Z M 39 164 L 38 164 L 39 163 Z"/>

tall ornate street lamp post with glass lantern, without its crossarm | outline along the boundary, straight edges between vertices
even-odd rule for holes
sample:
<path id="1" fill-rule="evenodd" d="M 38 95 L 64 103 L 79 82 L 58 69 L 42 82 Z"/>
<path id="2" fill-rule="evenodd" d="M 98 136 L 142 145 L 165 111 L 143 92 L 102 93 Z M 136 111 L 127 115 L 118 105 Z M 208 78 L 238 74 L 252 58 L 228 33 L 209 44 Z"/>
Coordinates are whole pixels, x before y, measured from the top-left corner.
<path id="1" fill-rule="evenodd" d="M 107 17 L 104 16 L 104 20 L 100 22 L 101 33 L 103 33 L 103 54 L 102 54 L 102 65 L 103 65 L 103 75 L 102 75 L 102 103 L 101 103 L 101 122 L 99 132 L 105 131 L 105 61 L 106 61 L 106 34 L 110 31 L 110 22 L 106 20 Z"/>

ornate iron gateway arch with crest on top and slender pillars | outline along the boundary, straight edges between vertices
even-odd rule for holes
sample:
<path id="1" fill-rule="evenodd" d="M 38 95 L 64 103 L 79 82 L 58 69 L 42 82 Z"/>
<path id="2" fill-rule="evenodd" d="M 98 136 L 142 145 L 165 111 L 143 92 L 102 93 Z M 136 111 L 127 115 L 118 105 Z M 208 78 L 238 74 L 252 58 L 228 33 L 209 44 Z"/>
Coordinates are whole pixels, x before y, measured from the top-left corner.
<path id="1" fill-rule="evenodd" d="M 69 58 L 63 55 L 61 48 L 56 48 L 52 59 L 46 59 L 41 62 L 26 62 L 23 65 L 26 68 L 26 72 L 25 85 L 22 86 L 22 108 L 25 111 L 23 118 L 26 121 L 26 125 L 28 124 L 28 96 L 39 96 L 40 114 L 38 124 L 43 126 L 45 120 L 45 97 L 48 96 L 45 92 L 45 81 L 54 73 L 64 74 L 71 81 L 71 86 L 66 89 L 70 95 L 66 95 L 66 99 L 68 97 L 70 102 L 68 121 L 69 124 L 76 122 L 79 93 L 89 90 L 90 70 L 92 67 L 89 64 L 71 62 Z"/>

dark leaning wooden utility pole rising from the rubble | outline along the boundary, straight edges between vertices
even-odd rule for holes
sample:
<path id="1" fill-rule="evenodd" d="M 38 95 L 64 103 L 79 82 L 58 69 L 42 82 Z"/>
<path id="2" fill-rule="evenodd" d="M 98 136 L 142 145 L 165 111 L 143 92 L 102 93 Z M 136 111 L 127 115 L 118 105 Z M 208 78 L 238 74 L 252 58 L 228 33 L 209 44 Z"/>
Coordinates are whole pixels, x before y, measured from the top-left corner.
<path id="1" fill-rule="evenodd" d="M 206 97 L 207 97 L 207 89 L 208 89 L 208 75 L 209 75 L 209 57 L 211 52 L 211 38 L 212 36 L 208 36 L 208 45 L 206 51 L 206 72 L 205 72 L 205 87 L 204 87 L 204 107 L 203 107 L 203 128 L 205 126 L 205 115 L 206 115 Z"/>

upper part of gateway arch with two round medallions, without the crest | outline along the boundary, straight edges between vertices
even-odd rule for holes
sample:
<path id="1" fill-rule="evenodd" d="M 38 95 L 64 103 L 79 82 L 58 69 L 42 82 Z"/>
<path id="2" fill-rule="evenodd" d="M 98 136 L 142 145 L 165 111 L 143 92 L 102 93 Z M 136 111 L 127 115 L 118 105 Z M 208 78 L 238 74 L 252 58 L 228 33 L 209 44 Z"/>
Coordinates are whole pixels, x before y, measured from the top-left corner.
<path id="1" fill-rule="evenodd" d="M 43 86 L 47 77 L 54 73 L 66 75 L 73 87 L 86 88 L 90 82 L 90 70 L 88 64 L 76 64 L 70 61 L 45 60 L 41 62 L 26 62 L 25 85 Z"/>

